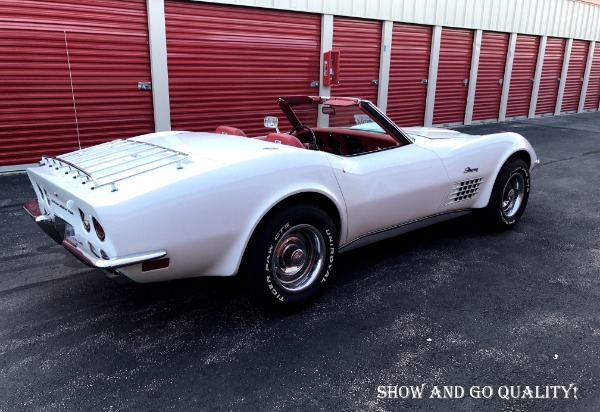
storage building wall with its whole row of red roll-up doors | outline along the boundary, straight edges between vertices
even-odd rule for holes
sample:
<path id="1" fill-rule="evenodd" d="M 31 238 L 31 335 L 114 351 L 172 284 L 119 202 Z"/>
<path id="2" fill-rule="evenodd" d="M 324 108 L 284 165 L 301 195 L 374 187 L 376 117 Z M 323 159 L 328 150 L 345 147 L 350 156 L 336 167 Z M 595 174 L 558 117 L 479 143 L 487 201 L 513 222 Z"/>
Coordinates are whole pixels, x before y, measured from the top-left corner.
<path id="1" fill-rule="evenodd" d="M 152 1 L 148 4 L 156 5 Z M 539 37 L 523 33 L 559 36 L 548 38 L 537 114 L 555 110 L 566 43 L 560 37 L 576 38 L 562 111 L 577 109 L 587 39 L 600 38 L 600 7 L 566 0 L 432 0 L 427 7 L 416 0 L 165 0 L 165 7 L 169 72 L 155 76 L 163 80 L 163 89 L 169 83 L 171 108 L 165 113 L 171 114 L 172 127 L 214 130 L 231 124 L 251 135 L 265 133 L 262 118 L 278 114 L 278 96 L 318 92 L 310 83 L 320 77 L 320 13 L 335 14 L 333 46 L 342 51 L 342 83 L 331 94 L 374 102 L 382 20 L 444 26 L 435 101 L 424 115 L 427 86 L 421 80 L 428 75 L 431 26 L 394 24 L 389 89 L 382 96 L 387 94 L 388 113 L 403 125 L 422 124 L 432 110 L 434 124 L 464 120 L 468 86 L 463 80 L 470 77 L 473 47 L 473 31 L 465 27 L 486 30 L 473 120 L 494 119 L 498 113 L 508 34 L 492 30 L 519 33 L 507 117 L 526 115 L 530 103 Z M 147 18 L 146 0 L 3 1 L 0 166 L 72 150 L 79 141 L 87 146 L 153 130 L 151 92 L 137 89 L 138 82 L 150 80 Z M 588 110 L 596 110 L 600 99 L 598 44 L 584 105 Z"/>

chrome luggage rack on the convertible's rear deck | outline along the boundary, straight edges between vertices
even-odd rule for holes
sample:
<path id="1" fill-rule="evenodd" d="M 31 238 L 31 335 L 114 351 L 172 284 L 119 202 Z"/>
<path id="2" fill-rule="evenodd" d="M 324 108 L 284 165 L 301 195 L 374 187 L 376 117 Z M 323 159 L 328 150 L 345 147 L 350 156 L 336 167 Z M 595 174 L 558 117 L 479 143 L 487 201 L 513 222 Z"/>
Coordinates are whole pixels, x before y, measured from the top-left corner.
<path id="1" fill-rule="evenodd" d="M 73 179 L 93 183 L 92 190 L 110 185 L 116 192 L 116 182 L 174 164 L 182 169 L 187 157 L 186 153 L 152 143 L 118 139 L 56 157 L 42 156 L 39 164 L 56 170 L 67 168 L 66 175 L 75 173 Z"/>

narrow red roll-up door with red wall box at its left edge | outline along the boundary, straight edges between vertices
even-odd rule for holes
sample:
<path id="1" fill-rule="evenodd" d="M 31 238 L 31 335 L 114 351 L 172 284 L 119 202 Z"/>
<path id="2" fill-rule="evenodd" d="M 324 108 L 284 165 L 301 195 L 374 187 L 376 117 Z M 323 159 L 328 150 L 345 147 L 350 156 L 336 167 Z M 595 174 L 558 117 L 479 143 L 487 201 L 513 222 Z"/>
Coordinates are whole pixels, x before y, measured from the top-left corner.
<path id="1" fill-rule="evenodd" d="M 333 48 L 340 55 L 340 85 L 331 88 L 333 96 L 367 99 L 377 104 L 381 22 L 334 17 Z"/>

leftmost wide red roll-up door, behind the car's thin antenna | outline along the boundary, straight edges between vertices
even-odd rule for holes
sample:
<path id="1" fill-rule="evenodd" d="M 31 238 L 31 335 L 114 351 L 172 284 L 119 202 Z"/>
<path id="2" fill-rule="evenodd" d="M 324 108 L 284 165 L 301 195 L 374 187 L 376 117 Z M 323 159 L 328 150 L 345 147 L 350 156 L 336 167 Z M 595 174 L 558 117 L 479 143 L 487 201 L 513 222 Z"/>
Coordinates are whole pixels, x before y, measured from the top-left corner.
<path id="1" fill-rule="evenodd" d="M 2 2 L 0 166 L 154 130 L 145 4 Z"/>

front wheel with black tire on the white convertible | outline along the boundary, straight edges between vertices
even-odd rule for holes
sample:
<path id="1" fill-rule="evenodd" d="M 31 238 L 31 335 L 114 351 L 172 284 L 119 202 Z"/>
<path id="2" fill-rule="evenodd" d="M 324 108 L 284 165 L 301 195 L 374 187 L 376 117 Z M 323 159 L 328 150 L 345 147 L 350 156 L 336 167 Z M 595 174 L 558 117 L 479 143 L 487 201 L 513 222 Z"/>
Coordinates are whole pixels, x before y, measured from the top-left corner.
<path id="1" fill-rule="evenodd" d="M 502 166 L 490 201 L 481 213 L 490 228 L 506 230 L 517 224 L 529 200 L 530 180 L 529 168 L 523 160 L 508 159 Z"/>

